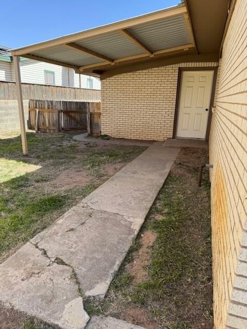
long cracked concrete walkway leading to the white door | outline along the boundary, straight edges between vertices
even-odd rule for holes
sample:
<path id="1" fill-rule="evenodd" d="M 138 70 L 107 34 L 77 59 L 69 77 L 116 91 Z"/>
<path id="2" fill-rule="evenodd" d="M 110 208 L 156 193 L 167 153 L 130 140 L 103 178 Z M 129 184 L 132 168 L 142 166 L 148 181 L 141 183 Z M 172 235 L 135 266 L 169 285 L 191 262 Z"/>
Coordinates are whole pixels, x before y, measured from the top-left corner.
<path id="1" fill-rule="evenodd" d="M 153 143 L 34 236 L 0 265 L 0 302 L 63 329 L 84 328 L 82 297 L 107 293 L 179 151 Z"/>

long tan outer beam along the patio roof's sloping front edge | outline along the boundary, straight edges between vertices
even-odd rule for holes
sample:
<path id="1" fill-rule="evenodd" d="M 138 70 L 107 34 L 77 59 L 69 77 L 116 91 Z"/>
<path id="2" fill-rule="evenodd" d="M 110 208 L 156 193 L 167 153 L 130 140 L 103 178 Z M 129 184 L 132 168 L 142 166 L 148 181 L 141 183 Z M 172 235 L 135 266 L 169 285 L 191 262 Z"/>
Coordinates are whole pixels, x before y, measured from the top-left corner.
<path id="1" fill-rule="evenodd" d="M 159 11 L 149 13 L 146 15 L 142 15 L 139 17 L 134 17 L 132 19 L 108 24 L 105 26 L 93 28 L 90 30 L 86 30 L 86 31 L 82 31 L 82 32 L 74 33 L 74 34 L 69 34 L 69 35 L 62 36 L 57 39 L 41 42 L 41 43 L 34 44 L 31 46 L 13 49 L 12 53 L 16 54 L 16 55 L 25 55 L 26 53 L 30 53 L 32 51 L 37 51 L 40 49 L 54 47 L 54 46 L 58 46 L 58 45 L 66 44 L 66 43 L 76 42 L 76 41 L 79 41 L 79 40 L 82 40 L 85 38 L 89 38 L 91 36 L 102 35 L 104 33 L 117 31 L 120 29 L 127 29 L 130 27 L 138 26 L 138 25 L 145 24 L 145 23 L 163 20 L 163 19 L 166 19 L 171 16 L 181 15 L 185 12 L 187 12 L 186 7 L 184 4 L 181 4 L 181 5 L 178 5 L 173 8 L 159 10 Z"/>

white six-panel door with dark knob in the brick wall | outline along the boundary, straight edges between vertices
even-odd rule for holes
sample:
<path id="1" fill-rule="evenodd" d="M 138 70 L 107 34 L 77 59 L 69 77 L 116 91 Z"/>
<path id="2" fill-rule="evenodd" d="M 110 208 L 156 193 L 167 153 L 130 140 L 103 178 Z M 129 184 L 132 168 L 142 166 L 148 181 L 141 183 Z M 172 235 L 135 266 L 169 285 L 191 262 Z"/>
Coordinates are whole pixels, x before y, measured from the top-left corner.
<path id="1" fill-rule="evenodd" d="M 205 139 L 214 71 L 183 71 L 177 137 Z"/>

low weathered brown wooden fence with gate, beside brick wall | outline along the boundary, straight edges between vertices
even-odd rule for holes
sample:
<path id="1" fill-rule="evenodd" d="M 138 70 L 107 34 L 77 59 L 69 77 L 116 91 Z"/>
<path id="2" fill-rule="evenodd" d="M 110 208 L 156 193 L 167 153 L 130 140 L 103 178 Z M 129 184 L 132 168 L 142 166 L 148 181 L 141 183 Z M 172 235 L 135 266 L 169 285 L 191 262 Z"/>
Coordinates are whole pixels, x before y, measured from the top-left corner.
<path id="1" fill-rule="evenodd" d="M 87 130 L 100 134 L 100 103 L 29 100 L 28 127 L 35 131 Z"/>

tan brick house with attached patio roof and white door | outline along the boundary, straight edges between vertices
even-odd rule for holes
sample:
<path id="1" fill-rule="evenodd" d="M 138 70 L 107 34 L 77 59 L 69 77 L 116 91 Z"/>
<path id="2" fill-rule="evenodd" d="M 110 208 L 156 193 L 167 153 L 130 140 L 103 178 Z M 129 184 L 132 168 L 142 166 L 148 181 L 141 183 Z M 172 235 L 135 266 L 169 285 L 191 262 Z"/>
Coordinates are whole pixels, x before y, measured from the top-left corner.
<path id="1" fill-rule="evenodd" d="M 16 69 L 27 56 L 98 74 L 102 134 L 209 141 L 216 329 L 247 328 L 246 18 L 246 0 L 185 0 L 12 51 Z"/>

